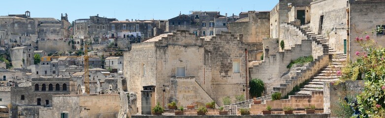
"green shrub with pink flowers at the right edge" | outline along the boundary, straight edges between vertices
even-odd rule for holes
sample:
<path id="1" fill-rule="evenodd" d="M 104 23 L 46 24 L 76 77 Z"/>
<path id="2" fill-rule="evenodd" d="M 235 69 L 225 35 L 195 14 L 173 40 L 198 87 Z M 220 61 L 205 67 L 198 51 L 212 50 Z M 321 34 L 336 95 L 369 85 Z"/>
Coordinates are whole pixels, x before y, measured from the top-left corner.
<path id="1" fill-rule="evenodd" d="M 356 38 L 364 51 L 357 51 L 357 60 L 348 62 L 337 74 L 342 75 L 341 81 L 365 80 L 364 90 L 357 95 L 361 118 L 385 118 L 385 48 L 369 35 L 364 38 Z"/>

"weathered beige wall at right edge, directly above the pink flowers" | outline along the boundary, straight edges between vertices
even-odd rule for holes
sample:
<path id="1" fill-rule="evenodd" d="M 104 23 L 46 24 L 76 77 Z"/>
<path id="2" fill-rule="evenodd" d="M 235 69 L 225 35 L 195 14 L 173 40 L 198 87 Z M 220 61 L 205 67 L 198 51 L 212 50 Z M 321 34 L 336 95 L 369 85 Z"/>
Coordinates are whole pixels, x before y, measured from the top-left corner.
<path id="1" fill-rule="evenodd" d="M 377 29 L 377 26 L 384 26 L 385 1 L 351 1 L 350 5 L 350 59 L 353 61 L 357 58 L 355 52 L 362 53 L 361 46 L 355 42 L 355 37 L 363 37 L 369 35 L 371 40 L 377 42 L 382 47 L 385 46 L 385 35 L 378 35 L 376 32 L 363 34 L 365 31 Z"/>

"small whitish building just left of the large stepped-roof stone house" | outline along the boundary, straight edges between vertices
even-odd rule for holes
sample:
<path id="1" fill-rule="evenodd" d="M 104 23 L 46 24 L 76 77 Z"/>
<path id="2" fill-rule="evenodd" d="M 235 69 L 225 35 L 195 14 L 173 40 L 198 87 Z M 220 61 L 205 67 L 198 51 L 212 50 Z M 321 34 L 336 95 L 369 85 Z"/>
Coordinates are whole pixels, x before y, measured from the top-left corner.
<path id="1" fill-rule="evenodd" d="M 123 57 L 108 57 L 105 59 L 104 67 L 117 69 L 117 72 L 123 71 Z"/>

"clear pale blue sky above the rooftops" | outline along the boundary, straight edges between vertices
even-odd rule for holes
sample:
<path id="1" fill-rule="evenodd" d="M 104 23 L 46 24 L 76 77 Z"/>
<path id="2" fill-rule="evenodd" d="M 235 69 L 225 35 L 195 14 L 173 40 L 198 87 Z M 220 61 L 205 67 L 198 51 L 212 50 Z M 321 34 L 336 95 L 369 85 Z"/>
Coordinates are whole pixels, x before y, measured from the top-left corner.
<path id="1" fill-rule="evenodd" d="M 279 0 L 4 0 L 0 16 L 31 12 L 32 18 L 60 19 L 67 13 L 68 20 L 87 19 L 90 16 L 140 20 L 168 20 L 181 12 L 220 11 L 221 15 L 239 15 L 244 11 L 270 11 Z M 7 4 L 7 5 L 5 5 Z"/>

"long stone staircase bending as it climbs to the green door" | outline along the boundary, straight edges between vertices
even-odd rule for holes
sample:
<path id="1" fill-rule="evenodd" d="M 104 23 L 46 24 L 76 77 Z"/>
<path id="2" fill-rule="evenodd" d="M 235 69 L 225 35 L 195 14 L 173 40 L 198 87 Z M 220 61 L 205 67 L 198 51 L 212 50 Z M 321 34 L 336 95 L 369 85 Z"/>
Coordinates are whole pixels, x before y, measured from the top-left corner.
<path id="1" fill-rule="evenodd" d="M 324 47 L 324 54 L 329 55 L 330 63 L 323 67 L 316 76 L 312 77 L 309 84 L 305 85 L 300 91 L 296 92 L 298 95 L 310 95 L 312 91 L 323 91 L 323 83 L 337 81 L 339 77 L 337 71 L 343 67 L 342 63 L 346 61 L 346 55 L 337 53 L 336 50 L 329 47 L 329 42 L 326 37 L 318 35 L 310 29 L 310 25 L 302 25 L 299 29 L 317 44 L 322 44 Z M 325 47 L 327 47 L 325 49 Z"/>

